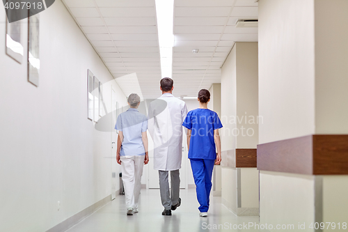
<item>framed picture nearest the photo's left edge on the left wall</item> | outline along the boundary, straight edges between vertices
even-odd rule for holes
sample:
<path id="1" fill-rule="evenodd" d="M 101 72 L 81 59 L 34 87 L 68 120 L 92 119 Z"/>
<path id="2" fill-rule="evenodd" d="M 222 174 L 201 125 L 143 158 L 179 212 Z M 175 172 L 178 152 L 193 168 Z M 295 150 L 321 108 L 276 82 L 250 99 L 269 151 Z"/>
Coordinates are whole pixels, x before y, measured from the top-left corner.
<path id="1" fill-rule="evenodd" d="M 18 13 L 16 10 L 6 10 L 8 17 L 13 17 Z M 19 20 L 16 22 L 8 22 L 8 17 L 6 17 L 6 54 L 18 63 L 22 63 L 24 56 L 24 35 L 22 33 L 22 26 L 24 20 Z"/>

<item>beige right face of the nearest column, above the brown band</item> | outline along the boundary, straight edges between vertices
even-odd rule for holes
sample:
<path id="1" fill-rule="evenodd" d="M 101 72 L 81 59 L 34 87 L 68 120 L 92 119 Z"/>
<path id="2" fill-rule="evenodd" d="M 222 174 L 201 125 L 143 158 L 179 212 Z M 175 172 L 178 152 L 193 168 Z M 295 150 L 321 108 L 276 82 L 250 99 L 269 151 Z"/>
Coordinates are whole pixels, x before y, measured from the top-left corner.
<path id="1" fill-rule="evenodd" d="M 315 0 L 314 6 L 315 133 L 347 134 L 348 1 Z"/>

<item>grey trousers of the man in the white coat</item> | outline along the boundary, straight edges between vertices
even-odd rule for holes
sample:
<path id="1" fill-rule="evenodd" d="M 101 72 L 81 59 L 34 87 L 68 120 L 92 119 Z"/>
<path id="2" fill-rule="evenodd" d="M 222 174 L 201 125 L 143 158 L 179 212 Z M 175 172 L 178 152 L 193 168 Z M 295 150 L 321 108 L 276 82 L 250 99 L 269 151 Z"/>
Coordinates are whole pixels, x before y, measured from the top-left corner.
<path id="1" fill-rule="evenodd" d="M 169 192 L 168 171 L 159 170 L 159 192 L 161 192 L 162 205 L 170 210 L 172 205 L 179 201 L 180 176 L 179 169 L 171 171 L 171 192 Z"/>

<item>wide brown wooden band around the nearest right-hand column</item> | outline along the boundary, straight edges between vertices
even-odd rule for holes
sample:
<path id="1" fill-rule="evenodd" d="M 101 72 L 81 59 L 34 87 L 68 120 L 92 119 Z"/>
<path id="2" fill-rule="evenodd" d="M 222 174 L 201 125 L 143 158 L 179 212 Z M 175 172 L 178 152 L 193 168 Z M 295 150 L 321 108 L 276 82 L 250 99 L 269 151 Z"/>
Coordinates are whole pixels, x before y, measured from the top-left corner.
<path id="1" fill-rule="evenodd" d="M 258 170 L 348 175 L 348 134 L 313 134 L 258 145 Z"/>

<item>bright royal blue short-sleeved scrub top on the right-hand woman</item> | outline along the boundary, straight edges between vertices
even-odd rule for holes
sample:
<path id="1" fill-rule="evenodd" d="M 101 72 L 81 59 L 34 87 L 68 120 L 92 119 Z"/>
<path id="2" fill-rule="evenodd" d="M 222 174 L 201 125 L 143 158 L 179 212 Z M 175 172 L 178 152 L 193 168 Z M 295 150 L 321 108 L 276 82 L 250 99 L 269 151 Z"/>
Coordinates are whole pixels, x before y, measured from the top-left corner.
<path id="1" fill-rule="evenodd" d="M 189 159 L 216 160 L 214 130 L 222 127 L 219 116 L 210 109 L 193 109 L 182 125 L 192 130 Z"/>

